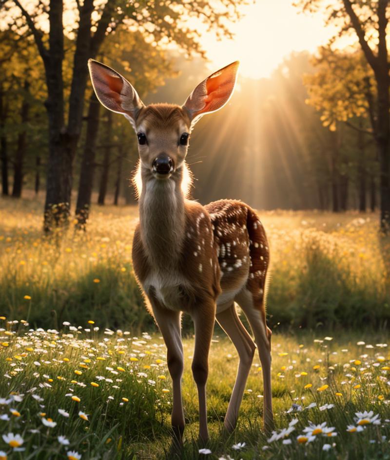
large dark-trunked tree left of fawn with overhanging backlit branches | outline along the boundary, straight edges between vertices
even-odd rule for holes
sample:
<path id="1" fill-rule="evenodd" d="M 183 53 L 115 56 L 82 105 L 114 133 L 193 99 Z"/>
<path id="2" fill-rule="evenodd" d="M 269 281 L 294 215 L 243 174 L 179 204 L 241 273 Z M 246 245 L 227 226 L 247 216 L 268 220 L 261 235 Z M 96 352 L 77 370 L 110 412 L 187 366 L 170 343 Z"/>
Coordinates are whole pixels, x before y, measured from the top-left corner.
<path id="1" fill-rule="evenodd" d="M 82 3 L 77 1 L 77 11 L 73 11 L 77 27 L 65 30 L 62 0 L 49 0 L 48 4 L 37 0 L 34 5 L 22 0 L 5 2 L 3 20 L 8 20 L 10 26 L 12 24 L 19 29 L 26 26 L 29 28 L 44 64 L 50 150 L 44 213 L 45 231 L 68 222 L 72 166 L 80 136 L 87 84 L 87 61 L 97 56 L 105 37 L 115 32 L 118 25 L 126 21 L 129 27 L 137 28 L 145 38 L 156 44 L 161 41 L 176 42 L 188 54 L 201 52 L 196 26 L 185 27 L 184 20 L 188 17 L 201 18 L 217 34 L 230 35 L 226 20 L 238 17 L 239 3 L 233 0 L 219 0 L 218 7 L 215 7 L 214 3 L 211 6 L 206 0 L 196 3 L 170 0 L 107 0 L 95 8 L 93 0 L 84 0 Z M 19 20 L 17 14 L 12 14 L 13 5 L 18 7 L 23 20 Z M 40 28 L 42 18 L 48 21 L 48 34 Z M 73 45 L 68 106 L 64 98 L 62 65 L 65 54 L 64 42 L 67 38 L 72 39 Z"/>

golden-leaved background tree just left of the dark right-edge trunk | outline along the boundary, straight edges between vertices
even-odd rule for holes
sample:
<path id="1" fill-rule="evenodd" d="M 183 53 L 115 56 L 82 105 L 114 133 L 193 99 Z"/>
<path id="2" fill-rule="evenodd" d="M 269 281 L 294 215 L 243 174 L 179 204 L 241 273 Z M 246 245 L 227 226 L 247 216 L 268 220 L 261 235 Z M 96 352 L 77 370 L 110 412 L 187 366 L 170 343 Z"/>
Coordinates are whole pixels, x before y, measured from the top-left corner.
<path id="1" fill-rule="evenodd" d="M 366 176 L 375 161 L 367 151 L 373 136 L 370 118 L 376 98 L 373 73 L 359 51 L 332 51 L 321 47 L 312 64 L 316 72 L 304 75 L 309 94 L 307 103 L 321 112 L 321 121 L 330 129 L 335 147 L 331 153 L 333 211 L 346 209 L 351 166 L 356 168 L 359 209 L 363 211 L 366 209 Z M 338 147 L 337 139 L 348 136 L 344 126 L 353 133 L 353 139 L 347 143 L 348 146 L 355 144 L 350 155 L 346 155 L 345 148 Z M 337 133 L 336 129 L 342 132 Z"/>

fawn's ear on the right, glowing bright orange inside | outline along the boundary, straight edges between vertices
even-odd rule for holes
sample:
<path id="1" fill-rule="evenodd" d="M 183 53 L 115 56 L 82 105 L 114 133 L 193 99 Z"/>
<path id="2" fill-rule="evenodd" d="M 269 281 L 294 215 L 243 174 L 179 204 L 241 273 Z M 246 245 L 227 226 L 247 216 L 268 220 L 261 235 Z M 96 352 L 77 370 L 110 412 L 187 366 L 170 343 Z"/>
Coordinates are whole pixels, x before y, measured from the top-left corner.
<path id="1" fill-rule="evenodd" d="M 189 113 L 192 123 L 228 102 L 234 90 L 238 65 L 239 62 L 235 61 L 208 76 L 188 96 L 183 109 Z"/>

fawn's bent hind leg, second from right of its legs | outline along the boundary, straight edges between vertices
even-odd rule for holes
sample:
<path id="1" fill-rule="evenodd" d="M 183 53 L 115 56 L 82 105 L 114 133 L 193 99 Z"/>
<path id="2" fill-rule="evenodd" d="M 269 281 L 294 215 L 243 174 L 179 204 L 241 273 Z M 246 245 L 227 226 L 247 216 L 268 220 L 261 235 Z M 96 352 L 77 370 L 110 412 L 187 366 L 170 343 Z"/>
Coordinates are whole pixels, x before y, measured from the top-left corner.
<path id="1" fill-rule="evenodd" d="M 232 303 L 232 305 L 226 310 L 218 313 L 216 315 L 216 320 L 232 340 L 240 359 L 224 423 L 227 431 L 233 431 L 235 424 L 237 423 L 238 411 L 241 405 L 245 384 L 251 369 L 254 350 L 256 347 L 248 331 L 241 323 L 235 310 L 234 303 Z"/>

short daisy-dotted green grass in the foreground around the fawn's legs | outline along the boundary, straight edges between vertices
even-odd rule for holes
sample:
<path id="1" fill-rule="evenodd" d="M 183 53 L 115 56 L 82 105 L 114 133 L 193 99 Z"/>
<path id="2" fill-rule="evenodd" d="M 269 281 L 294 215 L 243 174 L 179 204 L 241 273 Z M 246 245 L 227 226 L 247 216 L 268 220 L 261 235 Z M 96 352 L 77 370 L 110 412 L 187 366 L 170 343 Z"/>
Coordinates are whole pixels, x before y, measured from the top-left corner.
<path id="1" fill-rule="evenodd" d="M 1 323 L 0 398 L 16 398 L 8 404 L 0 400 L 0 415 L 7 414 L 10 419 L 0 420 L 1 434 L 19 434 L 23 439 L 20 447 L 25 448 L 13 451 L 0 439 L 0 450 L 9 459 L 66 459 L 68 451 L 76 451 L 82 460 L 175 458 L 170 452 L 171 379 L 159 335 L 133 337 L 120 330 L 103 333 L 90 330 L 95 327 L 90 324 L 84 325 L 87 331 L 65 327 L 59 333 Z M 337 336 L 332 340 L 320 336 L 321 341 L 309 333 L 299 338 L 273 336 L 275 428 L 278 431 L 292 419 L 298 420 L 285 438 L 291 439 L 288 445 L 282 440 L 268 442 L 262 430 L 262 377 L 257 355 L 237 428 L 230 436 L 222 432 L 238 359 L 232 344 L 218 335 L 212 344 L 207 385 L 210 441 L 206 446 L 197 443 L 197 396 L 191 375 L 194 341 L 185 339 L 186 429 L 184 448 L 177 458 L 389 459 L 390 354 L 383 344 L 388 336 Z M 362 340 L 365 343 L 357 345 Z M 326 385 L 323 391 L 317 390 Z M 317 406 L 308 409 L 313 402 Z M 289 412 L 292 404 L 303 410 Z M 320 410 L 324 404 L 334 407 Z M 12 415 L 10 409 L 20 415 Z M 355 424 L 355 412 L 365 410 L 378 414 L 380 424 L 363 425 L 363 432 L 347 432 L 347 426 Z M 79 411 L 88 415 L 88 421 L 79 417 Z M 56 426 L 45 426 L 42 417 L 52 419 Z M 298 443 L 297 436 L 310 422 L 327 422 L 337 436 L 317 434 L 310 443 Z M 70 444 L 59 444 L 60 435 Z M 232 446 L 237 442 L 246 445 L 235 451 Z M 322 450 L 325 443 L 332 445 L 328 452 Z M 212 453 L 199 454 L 201 447 Z"/>

